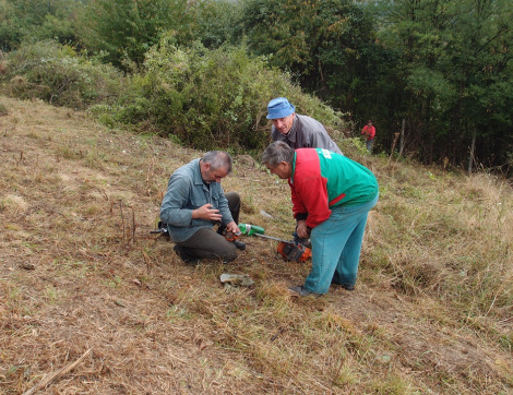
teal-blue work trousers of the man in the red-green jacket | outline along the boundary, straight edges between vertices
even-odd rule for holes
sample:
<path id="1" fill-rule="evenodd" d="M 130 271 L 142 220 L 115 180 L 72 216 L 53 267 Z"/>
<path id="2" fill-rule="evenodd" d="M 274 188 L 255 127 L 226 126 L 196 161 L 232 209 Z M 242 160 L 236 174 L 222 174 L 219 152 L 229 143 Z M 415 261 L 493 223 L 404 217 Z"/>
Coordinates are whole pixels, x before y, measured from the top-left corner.
<path id="1" fill-rule="evenodd" d="M 333 283 L 354 286 L 369 211 L 378 202 L 332 208 L 330 218 L 312 229 L 312 271 L 305 289 L 326 294 Z"/>

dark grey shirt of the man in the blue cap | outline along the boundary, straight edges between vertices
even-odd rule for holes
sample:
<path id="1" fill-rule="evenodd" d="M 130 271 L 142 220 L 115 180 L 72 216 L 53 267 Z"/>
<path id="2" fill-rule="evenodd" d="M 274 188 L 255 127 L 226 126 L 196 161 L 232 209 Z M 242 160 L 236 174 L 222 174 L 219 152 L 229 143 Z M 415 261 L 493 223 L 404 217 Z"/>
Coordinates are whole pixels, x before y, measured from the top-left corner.
<path id="1" fill-rule="evenodd" d="M 271 129 L 273 141 L 283 141 L 289 147 L 297 148 L 324 148 L 342 154 L 341 148 L 330 137 L 321 122 L 307 116 L 296 113 L 293 127 L 287 134 L 279 133 L 273 125 Z"/>

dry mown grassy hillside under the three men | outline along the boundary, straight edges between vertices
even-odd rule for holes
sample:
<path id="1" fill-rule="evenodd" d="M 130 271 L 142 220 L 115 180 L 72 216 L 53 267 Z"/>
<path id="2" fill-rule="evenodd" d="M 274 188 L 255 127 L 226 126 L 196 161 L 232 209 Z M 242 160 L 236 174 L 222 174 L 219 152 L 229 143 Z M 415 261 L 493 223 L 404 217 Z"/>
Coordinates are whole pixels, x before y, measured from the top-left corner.
<path id="1" fill-rule="evenodd" d="M 508 182 L 355 157 L 381 193 L 357 288 L 296 298 L 287 286 L 309 262 L 282 261 L 273 242 L 192 266 L 148 234 L 169 176 L 201 153 L 0 104 L 3 393 L 513 392 Z M 240 156 L 223 184 L 241 194 L 241 222 L 290 237 L 284 181 Z M 255 284 L 225 288 L 223 273 Z"/>

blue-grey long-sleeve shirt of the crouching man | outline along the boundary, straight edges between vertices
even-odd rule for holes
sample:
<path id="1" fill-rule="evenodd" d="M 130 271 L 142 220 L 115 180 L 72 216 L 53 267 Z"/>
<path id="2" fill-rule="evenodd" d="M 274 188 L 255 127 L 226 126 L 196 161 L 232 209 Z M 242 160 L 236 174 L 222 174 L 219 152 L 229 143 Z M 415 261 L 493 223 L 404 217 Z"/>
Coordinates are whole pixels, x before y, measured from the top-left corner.
<path id="1" fill-rule="evenodd" d="M 192 218 L 192 211 L 206 203 L 219 211 L 224 225 L 234 220 L 220 183 L 206 185 L 201 178 L 200 159 L 194 159 L 172 173 L 160 206 L 160 219 L 167 224 L 172 241 L 186 241 L 200 228 L 214 226 L 212 220 Z"/>

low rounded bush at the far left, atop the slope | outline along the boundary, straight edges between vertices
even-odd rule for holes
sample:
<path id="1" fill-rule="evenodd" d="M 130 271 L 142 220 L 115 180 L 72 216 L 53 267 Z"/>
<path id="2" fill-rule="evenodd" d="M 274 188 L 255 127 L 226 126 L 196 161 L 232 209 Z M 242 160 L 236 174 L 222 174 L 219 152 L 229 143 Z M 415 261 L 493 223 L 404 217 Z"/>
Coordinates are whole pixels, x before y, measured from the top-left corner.
<path id="1" fill-rule="evenodd" d="M 80 109 L 115 103 L 124 86 L 117 69 L 51 40 L 27 44 L 9 53 L 3 80 L 13 96 Z"/>

